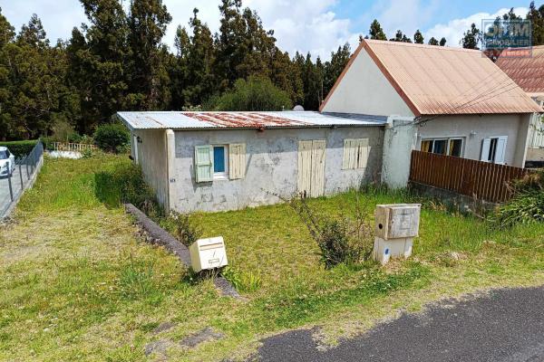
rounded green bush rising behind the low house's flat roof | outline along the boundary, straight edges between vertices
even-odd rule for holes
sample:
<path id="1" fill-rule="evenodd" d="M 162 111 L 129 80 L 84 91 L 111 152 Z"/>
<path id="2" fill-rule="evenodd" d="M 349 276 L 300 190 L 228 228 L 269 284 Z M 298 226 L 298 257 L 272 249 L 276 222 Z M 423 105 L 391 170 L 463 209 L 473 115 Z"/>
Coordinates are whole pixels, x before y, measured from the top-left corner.
<path id="1" fill-rule="evenodd" d="M 239 79 L 233 90 L 211 98 L 204 105 L 205 110 L 291 110 L 292 107 L 287 92 L 266 77 Z"/>

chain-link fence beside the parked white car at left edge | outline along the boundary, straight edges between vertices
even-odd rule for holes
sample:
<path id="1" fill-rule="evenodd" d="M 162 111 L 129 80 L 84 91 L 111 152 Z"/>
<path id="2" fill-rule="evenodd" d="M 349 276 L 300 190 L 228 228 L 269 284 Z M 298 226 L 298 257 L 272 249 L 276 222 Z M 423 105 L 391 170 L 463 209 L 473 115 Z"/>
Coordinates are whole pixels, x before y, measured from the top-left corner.
<path id="1" fill-rule="evenodd" d="M 0 220 L 8 216 L 26 188 L 33 185 L 44 163 L 44 145 L 39 140 L 25 157 L 15 158 L 15 167 L 8 167 L 7 176 L 0 177 Z"/>

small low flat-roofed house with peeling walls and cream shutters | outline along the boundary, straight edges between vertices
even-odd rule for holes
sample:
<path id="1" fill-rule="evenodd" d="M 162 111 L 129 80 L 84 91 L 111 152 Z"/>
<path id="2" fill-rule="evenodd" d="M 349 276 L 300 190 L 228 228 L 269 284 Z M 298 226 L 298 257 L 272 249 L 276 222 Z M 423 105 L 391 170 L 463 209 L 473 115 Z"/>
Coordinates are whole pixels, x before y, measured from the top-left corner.
<path id="1" fill-rule="evenodd" d="M 380 179 L 386 118 L 278 112 L 119 112 L 131 156 L 169 210 L 331 195 Z"/>

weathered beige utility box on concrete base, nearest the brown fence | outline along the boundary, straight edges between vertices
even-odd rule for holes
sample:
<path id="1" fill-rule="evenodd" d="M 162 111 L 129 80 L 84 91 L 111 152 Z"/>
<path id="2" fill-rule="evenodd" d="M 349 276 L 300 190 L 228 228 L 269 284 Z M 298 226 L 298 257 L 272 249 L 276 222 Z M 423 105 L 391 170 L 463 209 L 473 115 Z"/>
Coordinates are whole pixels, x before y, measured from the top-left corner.
<path id="1" fill-rule="evenodd" d="M 382 264 L 390 258 L 412 255 L 413 238 L 419 236 L 422 205 L 376 205 L 374 259 Z"/>

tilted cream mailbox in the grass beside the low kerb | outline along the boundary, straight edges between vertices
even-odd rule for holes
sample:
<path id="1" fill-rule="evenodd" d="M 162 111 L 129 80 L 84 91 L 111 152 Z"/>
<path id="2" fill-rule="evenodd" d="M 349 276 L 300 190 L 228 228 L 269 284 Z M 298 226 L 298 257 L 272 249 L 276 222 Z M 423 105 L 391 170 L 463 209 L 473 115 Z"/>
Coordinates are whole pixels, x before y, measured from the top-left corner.
<path id="1" fill-rule="evenodd" d="M 220 268 L 228 264 L 222 236 L 199 239 L 189 246 L 193 271 Z"/>

